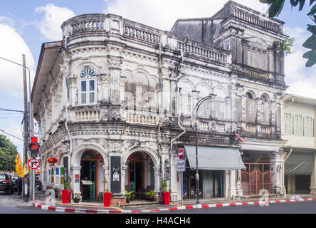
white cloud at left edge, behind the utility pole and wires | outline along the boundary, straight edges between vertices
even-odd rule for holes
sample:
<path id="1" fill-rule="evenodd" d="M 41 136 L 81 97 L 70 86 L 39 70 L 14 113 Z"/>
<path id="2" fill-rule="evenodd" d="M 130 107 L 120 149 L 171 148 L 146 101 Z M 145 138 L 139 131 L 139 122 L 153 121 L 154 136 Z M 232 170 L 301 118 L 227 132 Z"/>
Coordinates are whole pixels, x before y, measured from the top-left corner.
<path id="1" fill-rule="evenodd" d="M 6 22 L 10 23 L 6 23 Z M 5 23 L 4 23 L 5 22 Z M 34 58 L 23 38 L 12 27 L 10 19 L 0 21 L 0 57 L 22 64 L 22 54 L 26 55 L 26 66 L 31 69 L 31 81 L 34 76 Z M 0 90 L 8 95 L 23 98 L 23 68 L 0 59 Z M 28 83 L 28 72 L 27 72 Z"/>

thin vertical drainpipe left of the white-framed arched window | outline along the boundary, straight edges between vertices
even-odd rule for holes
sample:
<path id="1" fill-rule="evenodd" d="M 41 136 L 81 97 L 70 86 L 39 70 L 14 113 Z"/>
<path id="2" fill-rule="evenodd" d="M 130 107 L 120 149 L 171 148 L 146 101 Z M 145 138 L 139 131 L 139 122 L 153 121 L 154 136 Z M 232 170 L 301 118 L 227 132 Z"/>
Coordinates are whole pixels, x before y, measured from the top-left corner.
<path id="1" fill-rule="evenodd" d="M 66 112 L 66 119 L 65 119 L 65 129 L 67 130 L 67 134 L 68 134 L 68 139 L 69 139 L 69 156 L 68 156 L 68 167 L 69 167 L 69 171 L 70 171 L 70 167 L 71 167 L 71 154 L 73 152 L 73 142 L 71 140 L 71 136 L 70 136 L 70 132 L 69 132 L 69 128 L 68 128 L 68 119 L 69 119 L 69 113 L 68 113 L 68 107 L 69 107 L 69 95 L 68 95 L 68 81 L 67 78 L 70 76 L 70 72 L 71 72 L 71 54 L 68 50 L 67 47 L 67 36 L 65 36 L 65 45 L 62 47 L 65 49 L 65 51 L 68 53 L 69 56 L 69 62 L 68 62 L 68 74 L 67 76 L 65 76 L 65 85 L 66 85 L 66 97 L 67 97 L 67 105 L 65 106 L 65 112 Z"/>

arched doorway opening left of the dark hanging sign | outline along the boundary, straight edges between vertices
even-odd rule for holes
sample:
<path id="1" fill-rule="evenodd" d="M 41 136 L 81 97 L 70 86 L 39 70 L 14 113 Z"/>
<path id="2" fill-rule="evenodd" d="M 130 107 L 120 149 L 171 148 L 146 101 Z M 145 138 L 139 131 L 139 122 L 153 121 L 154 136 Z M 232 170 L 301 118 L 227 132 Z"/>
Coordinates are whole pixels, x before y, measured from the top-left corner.
<path id="1" fill-rule="evenodd" d="M 83 201 L 96 200 L 99 190 L 100 169 L 102 156 L 94 150 L 85 150 L 80 160 L 80 192 Z"/>

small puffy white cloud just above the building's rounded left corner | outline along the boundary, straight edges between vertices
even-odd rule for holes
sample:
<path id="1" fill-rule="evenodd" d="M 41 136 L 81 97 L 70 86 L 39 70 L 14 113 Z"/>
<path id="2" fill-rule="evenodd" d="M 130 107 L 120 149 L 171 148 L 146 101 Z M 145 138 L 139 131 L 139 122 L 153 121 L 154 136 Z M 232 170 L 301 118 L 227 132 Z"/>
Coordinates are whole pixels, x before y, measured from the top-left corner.
<path id="1" fill-rule="evenodd" d="M 61 24 L 75 16 L 75 13 L 68 8 L 47 4 L 35 9 L 36 13 L 45 13 L 41 21 L 36 21 L 36 26 L 41 34 L 49 41 L 59 41 L 63 38 Z"/>

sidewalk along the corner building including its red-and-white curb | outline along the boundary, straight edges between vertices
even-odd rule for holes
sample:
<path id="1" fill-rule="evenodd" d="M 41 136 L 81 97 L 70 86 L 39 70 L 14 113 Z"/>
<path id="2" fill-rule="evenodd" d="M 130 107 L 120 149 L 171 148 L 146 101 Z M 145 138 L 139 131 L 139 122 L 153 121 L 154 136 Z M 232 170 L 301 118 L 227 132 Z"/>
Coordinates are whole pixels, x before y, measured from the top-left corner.
<path id="1" fill-rule="evenodd" d="M 159 202 L 147 201 L 131 201 L 130 204 L 103 207 L 102 202 L 80 202 L 68 204 L 63 204 L 61 199 L 56 199 L 55 205 L 46 205 L 46 198 L 48 196 L 44 194 L 36 195 L 36 202 L 33 202 L 33 206 L 39 209 L 48 209 L 57 212 L 73 212 L 73 213 L 107 213 L 107 214 L 117 214 L 117 213 L 152 213 L 152 212 L 163 212 L 169 210 L 179 210 L 179 209 L 199 209 L 208 207 L 232 207 L 239 205 L 253 205 L 253 204 L 263 204 L 259 202 L 260 197 L 256 199 L 201 199 L 200 204 L 196 205 L 194 200 L 184 200 L 182 206 L 179 203 L 170 203 L 169 205 L 159 204 Z M 288 197 L 269 197 L 265 203 L 283 203 L 283 202 L 302 202 L 316 200 L 316 195 L 300 195 L 302 199 L 291 199 L 292 195 Z"/>

